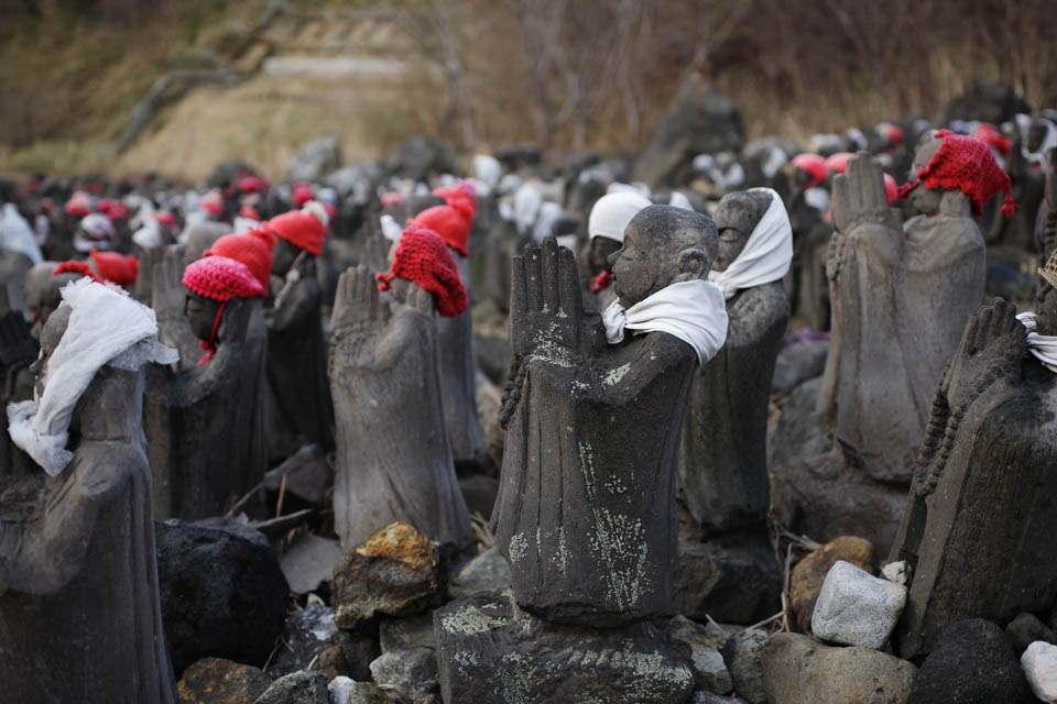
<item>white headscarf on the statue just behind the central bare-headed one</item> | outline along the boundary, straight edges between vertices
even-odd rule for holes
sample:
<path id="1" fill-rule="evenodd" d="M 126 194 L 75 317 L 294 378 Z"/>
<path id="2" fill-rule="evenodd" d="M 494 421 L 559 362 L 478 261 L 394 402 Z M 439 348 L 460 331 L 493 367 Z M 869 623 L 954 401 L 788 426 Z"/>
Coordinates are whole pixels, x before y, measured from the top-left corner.
<path id="1" fill-rule="evenodd" d="M 749 235 L 741 254 L 726 271 L 708 273 L 708 280 L 718 284 L 727 298 L 733 297 L 741 288 L 778 280 L 789 271 L 793 261 L 793 227 L 782 197 L 770 188 L 750 188 L 747 193 L 761 191 L 771 195 L 771 205 Z"/>

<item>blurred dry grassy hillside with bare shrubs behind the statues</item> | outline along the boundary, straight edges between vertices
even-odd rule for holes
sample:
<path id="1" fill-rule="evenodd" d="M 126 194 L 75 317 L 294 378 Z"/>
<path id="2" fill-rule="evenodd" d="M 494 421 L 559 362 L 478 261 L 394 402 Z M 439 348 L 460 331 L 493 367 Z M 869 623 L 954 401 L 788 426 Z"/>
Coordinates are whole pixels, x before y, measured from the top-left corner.
<path id="1" fill-rule="evenodd" d="M 638 150 L 690 75 L 744 136 L 942 119 L 977 84 L 1057 105 L 1053 0 L 0 0 L 0 172 L 157 172 L 413 134 Z M 984 118 L 980 118 L 984 119 Z"/>

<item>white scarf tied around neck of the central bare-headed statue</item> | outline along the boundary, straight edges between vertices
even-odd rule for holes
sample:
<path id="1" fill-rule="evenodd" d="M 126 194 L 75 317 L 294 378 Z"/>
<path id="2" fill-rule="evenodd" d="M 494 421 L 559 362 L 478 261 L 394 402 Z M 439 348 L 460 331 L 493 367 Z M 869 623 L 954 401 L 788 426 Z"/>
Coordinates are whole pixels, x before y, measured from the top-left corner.
<path id="1" fill-rule="evenodd" d="M 621 342 L 625 329 L 667 332 L 694 348 L 698 364 L 705 364 L 727 341 L 727 302 L 719 286 L 699 278 L 666 286 L 626 310 L 614 300 L 602 323 L 610 344 Z"/>

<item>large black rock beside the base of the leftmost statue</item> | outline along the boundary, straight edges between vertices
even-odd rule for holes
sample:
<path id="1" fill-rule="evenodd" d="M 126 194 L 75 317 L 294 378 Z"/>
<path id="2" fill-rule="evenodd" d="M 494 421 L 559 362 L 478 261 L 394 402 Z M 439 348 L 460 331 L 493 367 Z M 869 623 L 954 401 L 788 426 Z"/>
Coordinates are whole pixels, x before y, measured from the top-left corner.
<path id="1" fill-rule="evenodd" d="M 290 594 L 268 539 L 220 518 L 154 529 L 173 671 L 206 656 L 263 666 L 283 631 Z"/>

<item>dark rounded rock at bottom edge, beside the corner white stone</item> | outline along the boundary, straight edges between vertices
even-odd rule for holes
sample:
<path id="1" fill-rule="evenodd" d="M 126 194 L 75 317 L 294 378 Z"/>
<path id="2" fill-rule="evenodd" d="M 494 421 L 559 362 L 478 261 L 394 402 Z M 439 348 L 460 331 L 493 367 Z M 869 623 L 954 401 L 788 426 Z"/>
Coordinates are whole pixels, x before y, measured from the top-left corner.
<path id="1" fill-rule="evenodd" d="M 925 658 L 908 704 L 1028 704 L 1021 663 L 1002 629 L 982 618 L 949 626 Z"/>

